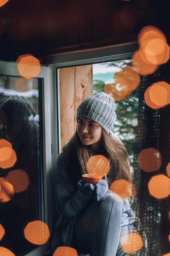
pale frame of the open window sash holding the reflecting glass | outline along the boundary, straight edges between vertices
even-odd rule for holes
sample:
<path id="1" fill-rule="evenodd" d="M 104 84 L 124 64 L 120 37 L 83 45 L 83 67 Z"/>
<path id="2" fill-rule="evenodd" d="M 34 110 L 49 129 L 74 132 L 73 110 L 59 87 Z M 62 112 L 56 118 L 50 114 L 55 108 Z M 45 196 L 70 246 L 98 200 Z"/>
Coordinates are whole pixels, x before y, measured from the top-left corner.
<path id="1" fill-rule="evenodd" d="M 20 76 L 17 67 L 14 62 L 0 61 L 0 74 L 4 76 Z M 41 71 L 36 76 L 41 79 L 41 109 L 42 109 L 42 152 L 43 152 L 43 174 L 40 177 L 42 179 L 43 188 L 41 189 L 42 205 L 41 215 L 44 222 L 48 225 L 50 234 L 52 233 L 53 221 L 52 221 L 52 177 L 51 177 L 51 107 L 50 107 L 50 68 L 41 67 Z M 40 138 L 41 139 L 41 138 Z M 25 254 L 25 256 L 42 256 L 49 248 L 49 241 L 37 246 L 35 249 Z"/>

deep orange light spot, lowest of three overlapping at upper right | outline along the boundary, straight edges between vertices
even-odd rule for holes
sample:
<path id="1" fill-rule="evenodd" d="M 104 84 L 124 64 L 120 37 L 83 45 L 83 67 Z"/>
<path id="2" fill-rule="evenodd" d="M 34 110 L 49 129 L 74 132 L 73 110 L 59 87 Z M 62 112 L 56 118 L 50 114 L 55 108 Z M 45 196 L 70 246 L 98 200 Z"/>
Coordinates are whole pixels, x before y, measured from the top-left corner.
<path id="1" fill-rule="evenodd" d="M 132 56 L 132 66 L 134 70 L 142 76 L 154 73 L 157 70 L 157 64 L 148 64 L 142 61 L 139 50 Z"/>

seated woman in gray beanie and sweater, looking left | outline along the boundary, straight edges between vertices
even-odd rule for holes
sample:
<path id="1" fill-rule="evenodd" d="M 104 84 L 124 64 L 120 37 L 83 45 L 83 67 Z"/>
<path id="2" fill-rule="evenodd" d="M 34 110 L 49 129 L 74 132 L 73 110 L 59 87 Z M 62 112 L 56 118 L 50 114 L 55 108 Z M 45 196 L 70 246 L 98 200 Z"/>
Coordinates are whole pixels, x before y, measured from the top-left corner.
<path id="1" fill-rule="evenodd" d="M 60 207 L 52 236 L 53 251 L 64 245 L 92 256 L 128 255 L 121 239 L 137 231 L 134 223 L 138 219 L 130 208 L 133 196 L 122 202 L 109 190 L 114 180 L 132 182 L 126 148 L 110 130 L 115 109 L 114 99 L 104 93 L 85 99 L 77 109 L 76 132 L 56 161 Z M 95 186 L 82 183 L 86 163 L 93 155 L 104 155 L 110 163 L 106 179 Z M 146 255 L 146 244 L 143 249 L 140 256 Z"/>

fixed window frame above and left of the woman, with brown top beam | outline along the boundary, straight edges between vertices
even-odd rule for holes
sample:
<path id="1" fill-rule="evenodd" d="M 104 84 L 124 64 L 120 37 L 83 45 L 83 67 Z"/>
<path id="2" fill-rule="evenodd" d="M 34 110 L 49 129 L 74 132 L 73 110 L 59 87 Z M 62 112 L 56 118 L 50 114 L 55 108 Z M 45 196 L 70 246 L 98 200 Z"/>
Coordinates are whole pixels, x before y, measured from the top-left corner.
<path id="1" fill-rule="evenodd" d="M 51 116 L 57 117 L 57 120 L 51 125 L 52 141 L 54 141 L 52 148 L 52 165 L 55 164 L 55 157 L 61 152 L 60 141 L 60 78 L 59 68 L 74 67 L 78 65 L 90 65 L 95 63 L 104 63 L 114 61 L 117 59 L 131 58 L 134 52 L 139 49 L 138 42 L 124 43 L 120 45 L 111 45 L 107 47 L 99 47 L 93 49 L 84 49 L 76 52 L 60 53 L 53 56 L 44 57 L 44 63 L 49 65 L 51 78 Z M 53 86 L 54 85 L 54 86 Z M 57 133 L 56 133 L 57 131 Z"/>

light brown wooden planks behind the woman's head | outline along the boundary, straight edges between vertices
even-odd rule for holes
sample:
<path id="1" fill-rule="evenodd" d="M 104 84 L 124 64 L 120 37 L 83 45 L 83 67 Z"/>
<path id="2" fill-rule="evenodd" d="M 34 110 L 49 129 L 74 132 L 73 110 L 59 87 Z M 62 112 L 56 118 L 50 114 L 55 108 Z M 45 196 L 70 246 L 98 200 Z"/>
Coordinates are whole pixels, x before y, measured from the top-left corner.
<path id="1" fill-rule="evenodd" d="M 76 130 L 79 104 L 93 95 L 92 65 L 60 68 L 61 148 Z"/>

